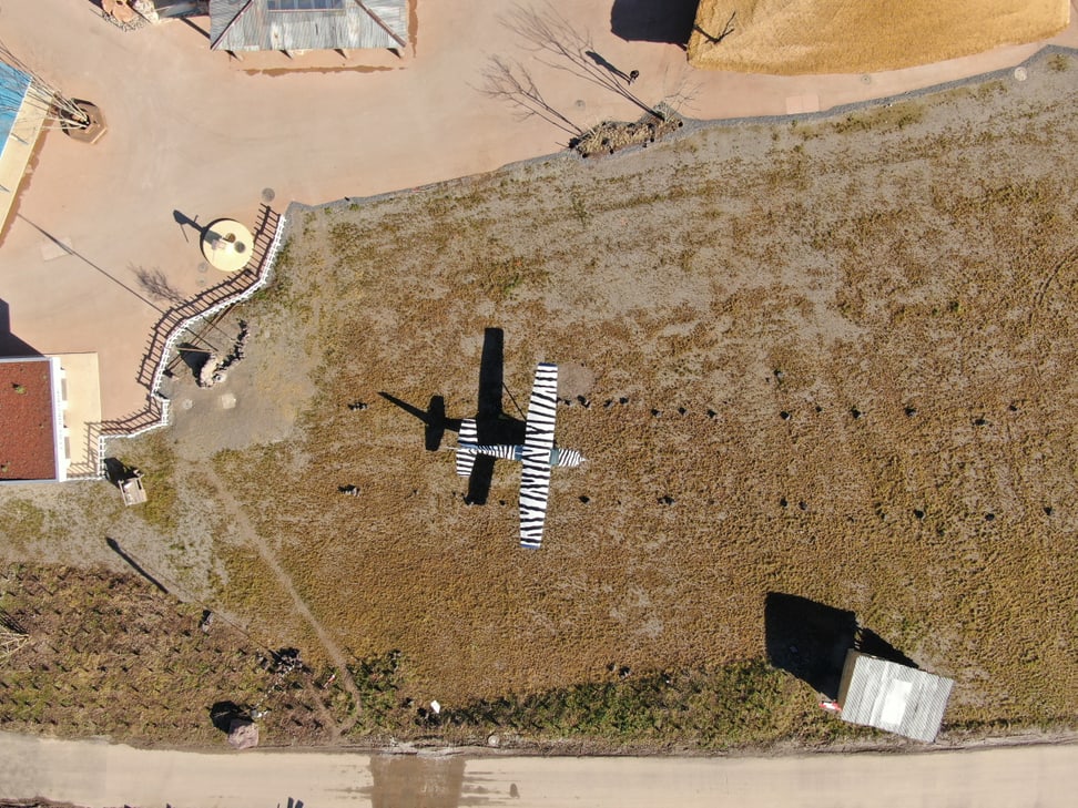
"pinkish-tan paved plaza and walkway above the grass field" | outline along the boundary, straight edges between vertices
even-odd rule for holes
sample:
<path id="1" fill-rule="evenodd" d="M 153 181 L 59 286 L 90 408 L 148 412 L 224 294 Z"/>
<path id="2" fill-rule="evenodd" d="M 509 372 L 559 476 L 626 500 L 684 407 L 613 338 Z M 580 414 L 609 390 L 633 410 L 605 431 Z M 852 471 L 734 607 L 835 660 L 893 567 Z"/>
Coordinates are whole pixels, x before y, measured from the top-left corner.
<path id="1" fill-rule="evenodd" d="M 640 71 L 632 89 L 641 99 L 691 91 L 683 112 L 698 119 L 828 109 L 1014 65 L 1038 50 L 868 76 L 703 72 L 677 45 L 612 33 L 612 0 L 552 4 L 607 62 Z M 177 219 L 250 223 L 267 188 L 283 209 L 292 200 L 366 196 L 558 151 L 563 133 L 517 121 L 476 90 L 489 55 L 526 61 L 551 105 L 582 126 L 638 116 L 624 98 L 537 62 L 499 23 L 506 8 L 417 0 L 414 47 L 401 59 L 354 53 L 349 64 L 367 69 L 281 74 L 284 57 L 232 61 L 183 22 L 125 33 L 90 2 L 3 3 L 0 39 L 67 94 L 96 102 L 109 122 L 94 146 L 52 132 L 39 150 L 0 245 L 0 315 L 6 306 L 11 333 L 41 352 L 96 351 L 103 417 L 123 417 L 145 400 L 138 371 L 166 307 L 148 298 L 136 273 L 161 270 L 184 295 L 217 279 Z M 1078 45 L 1078 21 L 1052 41 Z"/>

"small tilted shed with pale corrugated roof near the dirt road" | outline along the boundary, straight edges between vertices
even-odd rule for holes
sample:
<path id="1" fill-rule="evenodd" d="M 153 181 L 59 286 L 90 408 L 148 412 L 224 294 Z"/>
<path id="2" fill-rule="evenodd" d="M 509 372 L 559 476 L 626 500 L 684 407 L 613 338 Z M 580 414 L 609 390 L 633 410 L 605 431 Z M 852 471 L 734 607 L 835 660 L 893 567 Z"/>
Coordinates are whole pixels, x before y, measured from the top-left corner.
<path id="1" fill-rule="evenodd" d="M 932 743 L 954 679 L 851 651 L 842 671 L 842 719 Z"/>

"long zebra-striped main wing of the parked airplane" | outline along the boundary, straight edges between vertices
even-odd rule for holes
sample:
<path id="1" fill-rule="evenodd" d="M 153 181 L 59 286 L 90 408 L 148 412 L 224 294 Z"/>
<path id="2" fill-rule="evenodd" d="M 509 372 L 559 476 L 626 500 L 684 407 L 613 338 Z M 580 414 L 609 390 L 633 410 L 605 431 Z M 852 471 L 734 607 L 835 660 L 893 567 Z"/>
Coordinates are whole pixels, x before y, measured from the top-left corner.
<path id="1" fill-rule="evenodd" d="M 520 546 L 530 550 L 538 550 L 542 544 L 557 408 L 558 366 L 542 362 L 536 367 L 520 453 Z"/>

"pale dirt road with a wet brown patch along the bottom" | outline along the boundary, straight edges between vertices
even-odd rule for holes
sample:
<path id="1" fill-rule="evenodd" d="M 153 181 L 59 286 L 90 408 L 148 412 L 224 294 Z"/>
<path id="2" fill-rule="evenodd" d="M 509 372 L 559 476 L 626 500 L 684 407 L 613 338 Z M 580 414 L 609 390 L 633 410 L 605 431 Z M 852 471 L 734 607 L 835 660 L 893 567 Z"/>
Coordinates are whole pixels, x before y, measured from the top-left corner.
<path id="1" fill-rule="evenodd" d="M 80 806 L 1072 805 L 1078 746 L 779 758 L 414 757 L 148 751 L 0 734 L 0 795 Z"/>

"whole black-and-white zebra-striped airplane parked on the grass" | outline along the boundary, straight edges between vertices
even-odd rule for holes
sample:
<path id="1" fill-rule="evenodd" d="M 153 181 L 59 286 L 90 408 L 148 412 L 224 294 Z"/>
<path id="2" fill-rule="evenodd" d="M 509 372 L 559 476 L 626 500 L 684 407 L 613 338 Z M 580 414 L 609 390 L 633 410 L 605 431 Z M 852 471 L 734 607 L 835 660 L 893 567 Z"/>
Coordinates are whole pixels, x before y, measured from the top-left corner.
<path id="1" fill-rule="evenodd" d="M 480 454 L 520 461 L 520 546 L 529 550 L 538 550 L 542 544 L 542 525 L 547 519 L 547 499 L 550 494 L 550 469 L 555 466 L 580 466 L 584 460 L 576 449 L 559 449 L 555 446 L 557 408 L 558 366 L 542 362 L 536 367 L 523 444 L 480 446 L 476 420 L 466 418 L 460 422 L 457 473 L 461 477 L 471 473 L 471 467 Z"/>

